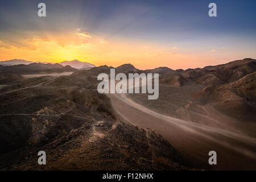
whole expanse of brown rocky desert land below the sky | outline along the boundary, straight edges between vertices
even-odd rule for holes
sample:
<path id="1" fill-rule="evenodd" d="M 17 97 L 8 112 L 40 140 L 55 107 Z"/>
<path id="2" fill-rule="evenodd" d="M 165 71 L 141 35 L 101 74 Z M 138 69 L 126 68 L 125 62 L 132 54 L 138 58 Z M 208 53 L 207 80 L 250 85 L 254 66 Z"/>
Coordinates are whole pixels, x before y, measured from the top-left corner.
<path id="1" fill-rule="evenodd" d="M 222 154 L 214 169 L 254 169 L 255 64 L 115 68 L 159 73 L 159 98 L 151 101 L 147 94 L 98 94 L 97 75 L 113 68 L 106 65 L 35 78 L 21 73 L 36 64 L 16 65 L 20 74 L 0 72 L 0 169 L 210 169 L 207 151 L 214 148 Z M 46 166 L 37 163 L 39 150 L 46 151 Z"/>

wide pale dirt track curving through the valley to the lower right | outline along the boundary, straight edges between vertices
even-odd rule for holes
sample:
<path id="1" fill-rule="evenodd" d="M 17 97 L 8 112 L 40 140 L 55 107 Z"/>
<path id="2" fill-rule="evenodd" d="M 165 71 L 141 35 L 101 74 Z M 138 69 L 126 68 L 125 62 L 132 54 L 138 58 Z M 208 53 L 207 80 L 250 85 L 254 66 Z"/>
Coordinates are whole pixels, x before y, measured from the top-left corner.
<path id="1" fill-rule="evenodd" d="M 192 163 L 209 166 L 208 152 L 214 150 L 215 169 L 256 169 L 255 138 L 156 113 L 124 94 L 108 97 L 123 121 L 157 131 Z"/>

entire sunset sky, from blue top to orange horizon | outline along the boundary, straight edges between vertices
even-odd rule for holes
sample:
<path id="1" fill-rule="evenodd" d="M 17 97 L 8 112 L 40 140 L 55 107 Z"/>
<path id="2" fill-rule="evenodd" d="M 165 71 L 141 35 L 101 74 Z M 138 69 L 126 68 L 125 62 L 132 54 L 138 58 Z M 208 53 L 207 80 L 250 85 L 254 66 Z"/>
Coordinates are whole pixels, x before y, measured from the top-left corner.
<path id="1" fill-rule="evenodd" d="M 255 9 L 254 0 L 0 1 L 0 61 L 187 69 L 256 59 Z"/>

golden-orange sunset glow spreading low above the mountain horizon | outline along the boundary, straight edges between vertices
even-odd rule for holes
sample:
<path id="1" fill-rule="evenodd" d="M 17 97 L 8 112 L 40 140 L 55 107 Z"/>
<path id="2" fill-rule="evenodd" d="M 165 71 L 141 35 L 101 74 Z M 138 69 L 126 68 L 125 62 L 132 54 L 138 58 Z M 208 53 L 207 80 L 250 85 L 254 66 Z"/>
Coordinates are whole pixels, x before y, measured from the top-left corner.
<path id="1" fill-rule="evenodd" d="M 151 42 L 135 42 L 125 39 L 105 40 L 77 28 L 60 35 L 35 35 L 20 38 L 18 44 L 0 40 L 1 60 L 24 59 L 59 63 L 64 60 L 80 60 L 95 65 L 131 63 L 139 69 L 156 67 L 192 68 L 209 56 L 185 53 L 176 46 L 159 46 Z M 209 52 L 208 52 L 209 53 Z M 213 52 L 210 52 L 211 55 Z M 214 52 L 215 53 L 215 52 Z M 189 60 L 188 62 L 185 62 Z"/>

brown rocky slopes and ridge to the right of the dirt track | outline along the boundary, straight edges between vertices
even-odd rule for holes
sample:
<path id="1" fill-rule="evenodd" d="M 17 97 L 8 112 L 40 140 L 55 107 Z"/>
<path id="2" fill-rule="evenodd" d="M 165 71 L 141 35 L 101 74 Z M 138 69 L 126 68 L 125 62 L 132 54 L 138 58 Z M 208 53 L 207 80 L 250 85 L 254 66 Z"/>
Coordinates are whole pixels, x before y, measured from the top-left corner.
<path id="1" fill-rule="evenodd" d="M 256 60 L 254 59 L 174 71 L 159 76 L 158 100 L 149 103 L 144 94 L 127 96 L 159 113 L 191 121 L 196 121 L 197 118 L 185 118 L 181 113 L 188 111 L 185 113 L 188 114 L 195 111 L 206 114 L 201 107 L 214 105 L 215 109 L 224 112 L 222 115 L 226 115 L 228 113 L 225 110 L 230 110 L 228 105 L 232 105 L 236 114 L 228 114 L 229 117 L 246 122 L 242 116 L 236 116 L 241 111 L 245 112 L 243 116 L 247 115 L 251 118 L 247 122 L 253 122 L 256 96 L 255 71 Z M 224 106 L 225 104 L 227 106 Z"/>

